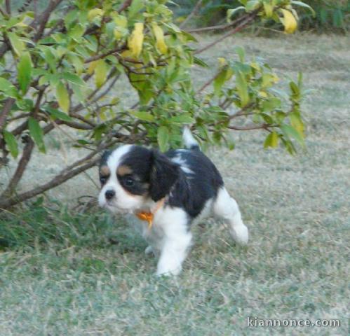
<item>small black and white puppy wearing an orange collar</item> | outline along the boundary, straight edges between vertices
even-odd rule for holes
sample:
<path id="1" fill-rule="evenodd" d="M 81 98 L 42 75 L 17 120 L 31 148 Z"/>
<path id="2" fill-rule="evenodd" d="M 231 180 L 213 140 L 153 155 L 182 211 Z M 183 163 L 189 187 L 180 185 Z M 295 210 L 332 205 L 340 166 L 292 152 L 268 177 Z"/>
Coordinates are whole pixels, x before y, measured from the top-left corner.
<path id="1" fill-rule="evenodd" d="M 123 145 L 107 151 L 100 163 L 101 207 L 114 214 L 135 214 L 146 253 L 159 255 L 156 274 L 179 274 L 191 246 L 190 226 L 209 214 L 229 224 L 232 237 L 248 242 L 236 201 L 227 193 L 213 162 L 201 153 L 188 128 L 188 149 L 159 151 Z"/>

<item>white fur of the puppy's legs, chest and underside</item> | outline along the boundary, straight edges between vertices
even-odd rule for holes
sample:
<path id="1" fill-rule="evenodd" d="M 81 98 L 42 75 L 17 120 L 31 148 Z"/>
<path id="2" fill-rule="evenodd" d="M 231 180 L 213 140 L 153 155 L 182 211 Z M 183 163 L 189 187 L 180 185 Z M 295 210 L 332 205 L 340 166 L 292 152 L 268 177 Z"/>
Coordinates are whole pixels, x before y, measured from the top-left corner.
<path id="1" fill-rule="evenodd" d="M 220 188 L 215 200 L 206 202 L 201 214 L 194 218 L 192 225 L 212 214 L 229 224 L 231 236 L 239 244 L 248 243 L 248 228 L 243 224 L 238 204 L 224 187 Z M 145 253 L 153 253 L 159 257 L 156 274 L 179 274 L 192 240 L 185 211 L 165 206 L 156 211 L 151 229 L 148 228 L 147 222 L 137 221 L 137 223 L 142 236 L 149 243 Z"/>

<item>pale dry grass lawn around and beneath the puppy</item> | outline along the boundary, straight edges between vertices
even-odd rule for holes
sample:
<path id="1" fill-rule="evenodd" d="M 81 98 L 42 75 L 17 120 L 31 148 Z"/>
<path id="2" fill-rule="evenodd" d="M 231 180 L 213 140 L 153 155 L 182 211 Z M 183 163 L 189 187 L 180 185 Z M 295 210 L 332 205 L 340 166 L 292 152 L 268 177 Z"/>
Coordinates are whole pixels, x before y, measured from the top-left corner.
<path id="1" fill-rule="evenodd" d="M 67 207 L 65 195 L 97 193 L 79 176 L 48 194 L 60 201 L 0 218 L 9 244 L 0 251 L 0 335 L 349 335 L 349 38 L 287 37 L 241 36 L 204 55 L 214 65 L 244 45 L 278 73 L 303 69 L 314 89 L 303 106 L 305 153 L 262 151 L 260 132 L 236 132 L 234 151 L 208 153 L 241 206 L 248 247 L 209 220 L 194 228 L 182 274 L 157 279 L 156 260 L 123 218 Z M 341 326 L 248 328 L 248 316 Z"/>

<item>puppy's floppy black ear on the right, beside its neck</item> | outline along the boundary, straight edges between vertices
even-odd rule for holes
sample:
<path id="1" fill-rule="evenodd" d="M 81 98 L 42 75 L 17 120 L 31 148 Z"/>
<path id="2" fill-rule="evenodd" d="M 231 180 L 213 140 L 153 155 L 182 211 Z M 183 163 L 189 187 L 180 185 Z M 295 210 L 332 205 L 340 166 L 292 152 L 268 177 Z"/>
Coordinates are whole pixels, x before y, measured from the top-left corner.
<path id="1" fill-rule="evenodd" d="M 152 167 L 149 193 L 155 202 L 168 195 L 179 177 L 179 166 L 171 162 L 166 155 L 152 151 Z"/>

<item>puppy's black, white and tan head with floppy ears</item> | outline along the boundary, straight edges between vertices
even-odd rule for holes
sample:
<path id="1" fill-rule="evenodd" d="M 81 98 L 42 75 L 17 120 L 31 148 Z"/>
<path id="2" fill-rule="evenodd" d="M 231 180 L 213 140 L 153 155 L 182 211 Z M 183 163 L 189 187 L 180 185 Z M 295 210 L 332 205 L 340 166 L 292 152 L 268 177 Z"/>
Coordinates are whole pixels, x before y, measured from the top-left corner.
<path id="1" fill-rule="evenodd" d="M 168 195 L 179 172 L 159 151 L 133 145 L 106 151 L 100 162 L 100 207 L 114 213 L 144 209 Z"/>

